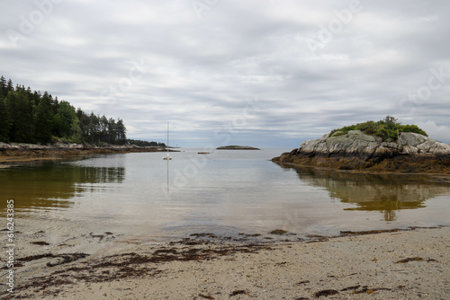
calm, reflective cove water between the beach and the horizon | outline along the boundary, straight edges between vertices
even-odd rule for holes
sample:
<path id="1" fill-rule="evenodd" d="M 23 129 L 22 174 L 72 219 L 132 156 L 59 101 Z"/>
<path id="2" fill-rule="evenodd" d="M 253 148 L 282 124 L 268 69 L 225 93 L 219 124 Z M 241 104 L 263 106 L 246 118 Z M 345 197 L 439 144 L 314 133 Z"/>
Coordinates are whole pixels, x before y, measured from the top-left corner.
<path id="1" fill-rule="evenodd" d="M 169 162 L 162 153 L 107 154 L 0 169 L 1 207 L 14 199 L 17 222 L 64 219 L 141 240 L 450 225 L 448 184 L 269 161 L 291 149 L 181 150 Z"/>

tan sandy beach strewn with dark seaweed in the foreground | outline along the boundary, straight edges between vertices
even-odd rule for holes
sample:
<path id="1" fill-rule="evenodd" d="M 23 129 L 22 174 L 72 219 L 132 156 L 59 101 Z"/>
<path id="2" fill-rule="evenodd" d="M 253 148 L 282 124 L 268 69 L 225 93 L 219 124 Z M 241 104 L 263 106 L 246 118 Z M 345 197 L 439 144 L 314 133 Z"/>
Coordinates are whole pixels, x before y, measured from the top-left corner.
<path id="1" fill-rule="evenodd" d="M 343 232 L 290 242 L 194 234 L 139 243 L 113 231 L 61 229 L 63 223 L 17 222 L 14 295 L 3 285 L 2 298 L 450 298 L 448 227 Z M 5 283 L 7 267 L 1 274 Z"/>

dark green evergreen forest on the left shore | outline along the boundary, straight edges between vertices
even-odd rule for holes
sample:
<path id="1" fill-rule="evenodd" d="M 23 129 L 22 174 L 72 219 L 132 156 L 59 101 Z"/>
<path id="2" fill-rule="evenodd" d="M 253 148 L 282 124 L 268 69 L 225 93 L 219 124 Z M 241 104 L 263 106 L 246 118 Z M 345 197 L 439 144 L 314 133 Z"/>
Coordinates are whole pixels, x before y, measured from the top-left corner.
<path id="1" fill-rule="evenodd" d="M 121 119 L 75 109 L 51 94 L 31 91 L 0 78 L 0 142 L 48 145 L 55 138 L 69 143 L 128 143 Z"/>

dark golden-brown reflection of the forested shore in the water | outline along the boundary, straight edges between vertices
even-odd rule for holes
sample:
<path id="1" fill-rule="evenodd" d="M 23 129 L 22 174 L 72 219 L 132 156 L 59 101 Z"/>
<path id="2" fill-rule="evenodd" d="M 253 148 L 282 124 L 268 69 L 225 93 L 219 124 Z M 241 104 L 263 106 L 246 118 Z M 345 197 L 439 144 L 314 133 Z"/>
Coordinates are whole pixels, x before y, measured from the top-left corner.
<path id="1" fill-rule="evenodd" d="M 123 167 L 78 166 L 58 161 L 20 163 L 0 170 L 0 197 L 14 199 L 17 211 L 67 208 L 74 203 L 69 199 L 89 189 L 88 183 L 120 183 L 124 178 Z M 0 208 L 4 207 L 6 201 L 0 201 Z"/>

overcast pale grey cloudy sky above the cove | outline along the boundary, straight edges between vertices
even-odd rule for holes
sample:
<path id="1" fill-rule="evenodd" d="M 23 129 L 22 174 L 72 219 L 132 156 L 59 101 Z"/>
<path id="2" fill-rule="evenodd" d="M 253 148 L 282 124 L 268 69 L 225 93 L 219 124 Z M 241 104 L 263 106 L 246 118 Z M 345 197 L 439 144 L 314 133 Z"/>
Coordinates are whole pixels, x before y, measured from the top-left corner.
<path id="1" fill-rule="evenodd" d="M 298 147 L 393 116 L 450 143 L 447 0 L 2 0 L 0 75 L 127 137 Z"/>

